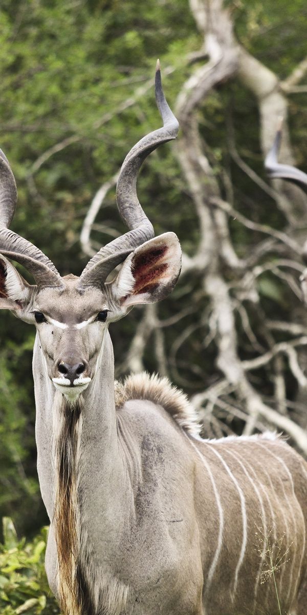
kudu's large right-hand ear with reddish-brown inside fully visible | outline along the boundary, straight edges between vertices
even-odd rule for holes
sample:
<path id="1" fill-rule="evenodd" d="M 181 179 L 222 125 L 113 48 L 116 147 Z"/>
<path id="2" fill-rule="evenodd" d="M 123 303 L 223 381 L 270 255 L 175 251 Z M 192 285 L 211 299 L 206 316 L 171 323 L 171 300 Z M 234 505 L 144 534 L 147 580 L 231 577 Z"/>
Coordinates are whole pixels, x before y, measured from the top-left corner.
<path id="1" fill-rule="evenodd" d="M 122 308 L 153 303 L 173 290 L 181 271 L 181 247 L 173 232 L 150 239 L 126 258 L 110 283 L 112 299 Z"/>

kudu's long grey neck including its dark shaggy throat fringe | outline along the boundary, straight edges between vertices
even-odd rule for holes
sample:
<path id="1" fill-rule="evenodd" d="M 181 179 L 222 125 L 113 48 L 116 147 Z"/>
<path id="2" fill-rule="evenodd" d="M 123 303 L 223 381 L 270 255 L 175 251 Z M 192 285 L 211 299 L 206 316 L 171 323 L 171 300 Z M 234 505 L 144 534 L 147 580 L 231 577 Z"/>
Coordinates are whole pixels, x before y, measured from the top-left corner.
<path id="1" fill-rule="evenodd" d="M 88 592 L 82 557 L 91 558 L 105 536 L 107 561 L 107 546 L 117 549 L 123 511 L 127 512 L 131 500 L 117 437 L 109 333 L 104 336 L 95 378 L 75 405 L 69 405 L 50 382 L 38 338 L 33 372 L 37 468 L 54 525 L 61 609 L 64 615 L 91 613 L 93 607 L 84 605 Z"/>

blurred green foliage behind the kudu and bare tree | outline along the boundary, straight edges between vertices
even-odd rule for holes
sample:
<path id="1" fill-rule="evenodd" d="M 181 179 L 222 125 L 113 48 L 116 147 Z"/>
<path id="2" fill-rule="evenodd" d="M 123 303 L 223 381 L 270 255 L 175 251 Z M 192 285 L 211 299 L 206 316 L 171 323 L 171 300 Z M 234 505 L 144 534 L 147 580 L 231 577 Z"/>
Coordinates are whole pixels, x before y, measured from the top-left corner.
<path id="1" fill-rule="evenodd" d="M 244 49 L 279 79 L 286 79 L 305 57 L 306 3 L 236 0 L 225 6 Z M 0 141 L 18 185 L 13 228 L 47 253 L 61 274 L 80 274 L 87 263 L 79 237 L 95 192 L 117 172 L 131 146 L 160 125 L 149 87 L 157 57 L 165 69 L 165 92 L 174 108 L 177 95 L 198 66 L 190 61 L 191 54 L 202 44 L 187 0 L 141 5 L 136 0 L 2 0 Z M 307 165 L 306 91 L 307 86 L 301 87 L 289 96 L 293 151 L 303 170 Z M 235 78 L 221 82 L 198 109 L 198 121 L 223 197 L 227 197 L 226 173 L 231 178 L 233 202 L 247 218 L 285 229 L 284 213 L 230 154 L 232 130 L 239 156 L 265 178 L 258 106 L 252 93 Z M 200 225 L 176 143 L 150 156 L 139 178 L 138 192 L 156 234 L 176 232 L 184 252 L 193 256 L 201 239 Z M 100 227 L 92 234 L 95 245 L 110 240 L 112 229 L 125 231 L 115 208 L 114 190 L 107 194 L 97 223 Z M 300 230 L 306 232 L 305 222 Z M 230 232 L 239 256 L 257 244 L 257 232 L 248 231 L 233 218 Z M 24 271 L 23 275 L 27 276 Z M 225 275 L 229 281 L 231 272 Z M 175 318 L 171 327 L 163 328 L 166 359 L 160 356 L 159 363 L 158 352 L 152 352 L 152 344 L 161 342 L 155 331 L 146 340 L 141 357 L 146 369 L 166 371 L 189 395 L 212 386 L 220 373 L 214 341 L 207 339 L 209 311 L 202 276 L 203 272 L 192 270 L 159 308 L 159 317 L 166 322 L 178 312 L 185 314 L 184 319 L 176 322 Z M 260 304 L 250 314 L 252 327 L 257 328 L 262 311 L 268 318 L 291 319 L 290 312 L 299 300 L 293 297 L 287 281 L 268 272 L 260 276 L 258 292 Z M 127 357 L 140 310 L 134 309 L 112 327 L 117 375 L 131 367 Z M 195 322 L 199 326 L 195 327 Z M 238 331 L 241 329 L 238 322 Z M 278 335 L 275 341 L 284 339 Z M 259 339 L 266 346 L 265 335 L 260 333 Z M 0 514 L 12 517 L 18 534 L 29 537 L 48 522 L 36 475 L 33 340 L 31 327 L 1 312 Z M 255 347 L 244 335 L 239 352 L 245 359 L 255 356 Z M 284 370 L 287 398 L 293 401 L 298 384 L 288 365 Z M 253 378 L 254 386 L 274 407 L 271 373 L 263 367 Z M 226 414 L 220 421 L 225 432 L 243 430 L 238 416 Z M 33 606 L 33 613 L 39 612 L 36 608 Z"/>

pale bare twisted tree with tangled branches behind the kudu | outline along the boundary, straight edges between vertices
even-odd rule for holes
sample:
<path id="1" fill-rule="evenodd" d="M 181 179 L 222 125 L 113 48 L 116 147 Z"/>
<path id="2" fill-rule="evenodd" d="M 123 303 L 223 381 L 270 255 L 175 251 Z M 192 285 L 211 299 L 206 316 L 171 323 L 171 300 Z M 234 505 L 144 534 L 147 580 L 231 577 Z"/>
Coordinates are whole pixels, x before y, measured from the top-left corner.
<path id="1" fill-rule="evenodd" d="M 195 311 L 183 308 L 178 316 L 175 314 L 166 319 L 160 319 L 156 306 L 147 306 L 136 327 L 121 369 L 143 370 L 146 348 L 150 346 L 157 368 L 163 375 L 171 371 L 176 382 L 185 387 L 188 380 L 182 370 L 186 366 L 190 373 L 194 374 L 199 388 L 203 381 L 203 391 L 193 396 L 193 405 L 198 410 L 202 409 L 203 416 L 206 416 L 206 430 L 210 432 L 209 425 L 213 429 L 215 425 L 219 431 L 223 431 L 223 423 L 220 423 L 219 419 L 219 413 L 222 411 L 226 432 L 229 413 L 241 421 L 244 434 L 268 427 L 282 429 L 307 454 L 305 431 L 289 415 L 291 405 L 288 405 L 287 400 L 285 363 L 282 359 L 287 359 L 289 373 L 295 379 L 298 390 L 304 392 L 307 378 L 305 368 L 301 365 L 300 351 L 303 349 L 305 353 L 307 346 L 304 324 L 306 317 L 300 308 L 301 291 L 291 271 L 303 271 L 303 236 L 300 229 L 302 225 L 307 227 L 307 199 L 300 188 L 284 181 L 275 181 L 273 187 L 269 186 L 238 153 L 233 125 L 228 122 L 230 156 L 249 180 L 276 202 L 286 218 L 286 228 L 280 230 L 271 224 L 249 220 L 239 211 L 239 207 L 225 200 L 225 182 L 227 191 L 233 194 L 231 177 L 225 172 L 223 175 L 217 173 L 212 166 L 214 154 L 204 141 L 203 130 L 203 109 L 208 96 L 219 87 L 225 88 L 227 82 L 236 80 L 244 89 L 251 90 L 257 101 L 262 156 L 264 157 L 271 147 L 276 125 L 282 116 L 284 132 L 280 155 L 282 161 L 293 164 L 287 130 L 287 93 L 293 92 L 293 88 L 297 87 L 305 76 L 307 61 L 306 58 L 302 60 L 287 79 L 281 80 L 236 41 L 233 33 L 233 13 L 223 6 L 222 0 L 190 0 L 190 10 L 203 36 L 203 43 L 199 51 L 190 53 L 187 58 L 191 66 L 195 63 L 198 63 L 198 66 L 193 68 L 177 97 L 175 111 L 181 125 L 181 135 L 174 145 L 174 151 L 187 183 L 188 196 L 195 207 L 199 240 L 192 254 L 183 254 L 181 280 L 196 282 L 199 279 L 200 288 L 198 287 L 197 292 L 192 291 L 193 306 L 200 306 L 204 299 L 208 303 L 205 309 L 199 307 Z M 111 188 L 115 181 L 116 175 L 101 186 L 88 212 L 82 229 L 82 245 L 88 255 L 93 253 L 90 248 L 91 226 L 107 189 Z M 230 230 L 231 219 L 235 220 L 236 228 L 239 225 L 244 226 L 248 229 L 247 232 L 252 232 L 253 237 L 264 233 L 269 239 L 264 242 L 254 239 L 252 253 L 246 250 L 245 255 L 238 256 Z M 233 222 L 231 226 L 233 227 Z M 263 258 L 266 260 L 263 261 Z M 271 314 L 266 314 L 261 308 L 260 342 L 257 331 L 260 320 L 255 319 L 255 309 L 257 306 L 260 308 L 261 301 L 259 280 L 264 279 L 266 274 L 276 276 L 282 284 L 287 284 L 297 296 L 298 303 L 295 303 L 289 324 L 281 322 L 280 319 L 274 321 Z M 167 355 L 165 335 L 161 333 L 163 320 L 164 323 L 175 324 L 192 312 L 195 315 L 194 320 L 187 318 L 188 322 L 180 335 L 173 340 Z M 236 314 L 239 314 L 241 325 Z M 285 339 L 276 343 L 273 331 L 283 332 Z M 201 374 L 200 367 L 185 362 L 181 357 L 182 347 L 190 339 L 195 339 L 195 333 L 199 339 L 200 332 L 203 339 L 199 341 L 196 352 L 208 347 L 211 352 L 214 349 L 216 368 L 222 374 L 216 376 L 217 382 L 209 387 L 206 387 L 206 374 Z M 293 338 L 293 335 L 300 337 Z M 245 344 L 243 336 L 248 340 L 254 355 L 249 359 L 241 359 Z M 273 405 L 276 410 L 265 402 L 261 389 L 257 383 L 252 382 L 252 373 L 260 369 L 270 373 L 275 395 Z"/>

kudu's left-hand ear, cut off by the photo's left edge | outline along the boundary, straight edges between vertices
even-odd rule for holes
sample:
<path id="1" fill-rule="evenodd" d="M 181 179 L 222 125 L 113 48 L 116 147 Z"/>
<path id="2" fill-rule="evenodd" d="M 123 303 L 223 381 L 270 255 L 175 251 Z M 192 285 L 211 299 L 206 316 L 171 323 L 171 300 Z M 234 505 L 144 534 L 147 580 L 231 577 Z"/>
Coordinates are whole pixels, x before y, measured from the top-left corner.
<path id="1" fill-rule="evenodd" d="M 33 288 L 20 276 L 14 265 L 0 254 L 0 309 L 10 309 L 23 320 Z"/>

